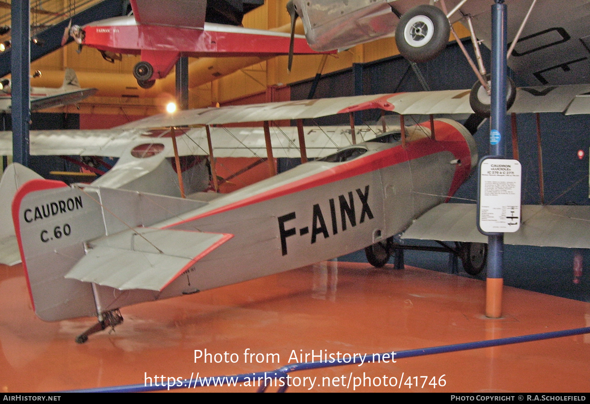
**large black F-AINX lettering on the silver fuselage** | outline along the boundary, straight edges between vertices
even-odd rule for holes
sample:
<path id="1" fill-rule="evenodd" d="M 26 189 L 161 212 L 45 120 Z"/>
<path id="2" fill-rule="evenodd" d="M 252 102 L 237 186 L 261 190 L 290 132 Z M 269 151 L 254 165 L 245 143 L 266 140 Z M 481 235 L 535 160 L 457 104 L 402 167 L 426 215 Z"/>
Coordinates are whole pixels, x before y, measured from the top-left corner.
<path id="1" fill-rule="evenodd" d="M 362 205 L 359 214 L 358 223 L 361 224 L 365 222 L 365 218 L 369 218 L 371 220 L 373 218 L 373 212 L 371 211 L 371 206 L 369 206 L 369 186 L 365 186 L 365 190 L 361 190 L 357 188 L 356 195 Z M 346 195 L 346 196 L 345 196 Z M 355 192 L 349 191 L 346 194 L 338 195 L 338 206 L 340 208 L 340 229 L 341 231 L 346 231 L 346 229 L 350 227 L 355 227 L 357 224 L 356 218 L 356 208 L 355 208 Z M 347 198 L 348 196 L 348 198 Z M 312 224 L 311 224 L 311 241 L 310 244 L 315 244 L 317 241 L 318 235 L 323 235 L 324 238 L 329 238 L 330 233 L 328 231 L 328 226 L 326 225 L 326 219 L 329 218 L 331 221 L 331 228 L 332 228 L 332 235 L 338 234 L 338 215 L 336 213 L 336 198 L 330 198 L 328 203 L 330 205 L 330 215 L 324 216 L 322 212 L 322 208 L 319 203 L 316 203 L 312 207 Z M 358 206 L 358 205 L 356 205 Z M 287 255 L 287 237 L 291 237 L 297 235 L 297 228 L 285 228 L 286 222 L 294 220 L 297 218 L 296 212 L 291 212 L 289 214 L 279 216 L 278 217 L 278 232 L 281 237 L 281 252 L 283 255 Z M 347 224 L 350 224 L 350 226 Z M 310 226 L 304 226 L 299 229 L 299 236 L 304 236 L 309 234 Z"/>

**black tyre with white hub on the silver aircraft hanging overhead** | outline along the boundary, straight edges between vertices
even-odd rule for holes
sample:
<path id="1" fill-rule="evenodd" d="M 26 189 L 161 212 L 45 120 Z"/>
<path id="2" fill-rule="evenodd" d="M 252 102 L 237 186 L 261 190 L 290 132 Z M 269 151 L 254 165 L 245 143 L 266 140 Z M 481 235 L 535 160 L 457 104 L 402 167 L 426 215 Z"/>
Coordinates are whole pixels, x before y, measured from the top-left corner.
<path id="1" fill-rule="evenodd" d="M 450 31 L 447 16 L 440 8 L 421 5 L 402 15 L 395 29 L 395 43 L 409 61 L 426 62 L 447 47 Z"/>

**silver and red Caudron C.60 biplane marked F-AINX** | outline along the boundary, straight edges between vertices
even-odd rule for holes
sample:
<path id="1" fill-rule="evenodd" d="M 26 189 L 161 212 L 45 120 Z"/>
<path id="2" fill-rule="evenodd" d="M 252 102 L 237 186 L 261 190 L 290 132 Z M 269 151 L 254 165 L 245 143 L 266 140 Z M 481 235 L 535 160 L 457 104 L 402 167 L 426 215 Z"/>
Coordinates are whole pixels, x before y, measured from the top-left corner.
<path id="1" fill-rule="evenodd" d="M 587 91 L 566 86 L 553 98 L 551 92 L 535 96 L 519 91 L 513 108 L 542 104 L 546 110 L 552 106 L 563 111 L 572 104 L 571 99 L 563 101 L 568 89 L 571 98 Z M 468 91 L 451 90 L 178 111 L 120 130 L 299 120 L 373 108 L 401 114 L 471 111 Z M 81 343 L 91 333 L 119 324 L 119 308 L 141 301 L 238 283 L 365 247 L 369 261 L 383 265 L 394 248 L 392 237 L 408 228 L 411 232 L 421 226 L 421 237 L 468 241 L 464 218 L 473 205 L 441 205 L 477 162 L 468 130 L 453 120 L 433 119 L 379 135 L 208 201 L 109 188 L 100 179 L 73 187 L 42 179 L 26 182 L 15 195 L 12 219 L 35 313 L 47 321 L 97 316 L 99 323 L 78 336 Z M 75 140 L 78 147 L 84 143 Z M 123 137 L 119 146 L 135 147 L 138 141 Z M 161 147 L 144 156 L 129 153 L 120 173 L 135 160 L 145 164 L 163 159 L 170 149 L 163 137 L 140 141 Z M 157 166 L 140 167 L 158 175 Z M 113 172 L 112 178 L 126 175 Z M 433 218 L 430 212 L 437 206 L 444 212 Z M 587 206 L 525 206 L 525 218 L 531 209 L 533 218 L 507 242 L 590 247 L 590 237 L 579 237 L 589 233 Z M 460 222 L 464 225 L 454 231 Z M 572 233 L 577 244 L 561 237 Z M 481 261 L 471 252 L 463 258 Z"/>

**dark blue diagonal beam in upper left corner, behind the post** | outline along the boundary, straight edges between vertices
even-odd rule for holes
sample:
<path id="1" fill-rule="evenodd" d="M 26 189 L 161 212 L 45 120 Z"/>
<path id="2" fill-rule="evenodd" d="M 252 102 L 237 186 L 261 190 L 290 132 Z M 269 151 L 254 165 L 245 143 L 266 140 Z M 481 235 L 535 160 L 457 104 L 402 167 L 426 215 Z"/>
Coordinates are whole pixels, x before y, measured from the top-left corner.
<path id="1" fill-rule="evenodd" d="M 16 2 L 15 2 L 16 3 Z M 23 3 L 24 4 L 24 3 Z M 27 2 L 28 4 L 28 2 Z M 19 4 L 20 5 L 20 4 Z M 91 6 L 90 8 L 79 12 L 74 15 L 71 20 L 72 24 L 86 25 L 89 22 L 98 21 L 100 19 L 119 17 L 124 15 L 126 12 L 126 1 L 125 0 L 104 0 L 99 4 Z M 14 16 L 13 16 L 14 19 Z M 53 51 L 61 48 L 61 38 L 64 35 L 64 30 L 68 26 L 70 20 L 60 22 L 53 27 L 45 29 L 45 31 L 39 32 L 35 35 L 40 41 L 38 44 L 31 43 L 31 61 L 35 61 Z M 27 23 L 28 24 L 28 23 Z M 14 22 L 13 22 L 14 25 Z M 14 50 L 15 38 L 14 26 L 12 27 L 12 47 L 4 53 L 0 54 L 0 77 L 11 73 L 11 55 Z M 27 28 L 28 32 L 28 28 Z M 72 41 L 70 37 L 68 43 Z M 17 52 L 18 54 L 18 52 Z M 28 76 L 28 73 L 27 73 Z M 28 78 L 28 77 L 27 77 Z M 14 95 L 13 95 L 14 96 Z M 14 104 L 14 101 L 13 101 Z"/>

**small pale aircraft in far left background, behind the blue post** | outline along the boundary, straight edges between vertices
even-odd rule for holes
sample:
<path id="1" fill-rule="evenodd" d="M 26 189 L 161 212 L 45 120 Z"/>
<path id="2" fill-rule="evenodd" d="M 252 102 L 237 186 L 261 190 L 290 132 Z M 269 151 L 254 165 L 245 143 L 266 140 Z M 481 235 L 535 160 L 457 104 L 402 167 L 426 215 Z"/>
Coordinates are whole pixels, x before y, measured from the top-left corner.
<path id="1" fill-rule="evenodd" d="M 65 69 L 64 82 L 61 87 L 31 87 L 31 110 L 61 107 L 76 104 L 84 98 L 96 94 L 96 88 L 80 88 L 76 72 Z M 8 78 L 0 80 L 0 111 L 10 112 L 12 104 L 12 87 Z"/>

